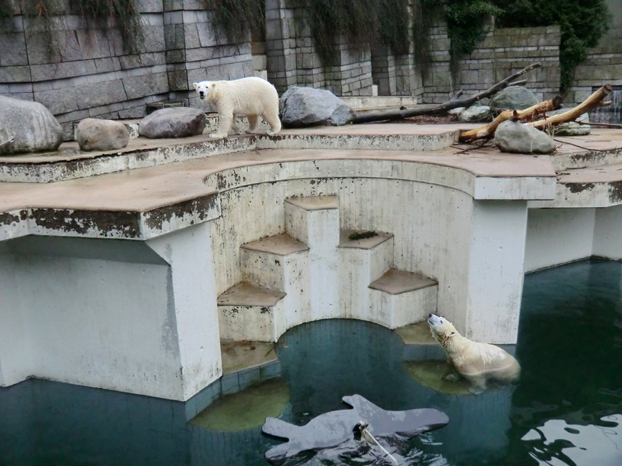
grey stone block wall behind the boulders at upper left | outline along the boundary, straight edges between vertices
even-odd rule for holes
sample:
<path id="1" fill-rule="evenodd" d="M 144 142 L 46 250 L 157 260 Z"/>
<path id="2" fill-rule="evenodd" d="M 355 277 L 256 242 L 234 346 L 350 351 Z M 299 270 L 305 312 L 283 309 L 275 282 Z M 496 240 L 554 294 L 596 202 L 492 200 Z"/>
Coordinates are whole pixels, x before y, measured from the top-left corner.
<path id="1" fill-rule="evenodd" d="M 200 0 L 140 0 L 138 8 L 144 37 L 129 50 L 113 23 L 97 26 L 66 8 L 47 31 L 17 5 L 0 19 L 0 95 L 44 104 L 70 139 L 86 117 L 143 117 L 147 104 L 169 99 L 201 106 L 194 81 L 253 75 L 250 38 L 236 45 L 214 32 Z"/>

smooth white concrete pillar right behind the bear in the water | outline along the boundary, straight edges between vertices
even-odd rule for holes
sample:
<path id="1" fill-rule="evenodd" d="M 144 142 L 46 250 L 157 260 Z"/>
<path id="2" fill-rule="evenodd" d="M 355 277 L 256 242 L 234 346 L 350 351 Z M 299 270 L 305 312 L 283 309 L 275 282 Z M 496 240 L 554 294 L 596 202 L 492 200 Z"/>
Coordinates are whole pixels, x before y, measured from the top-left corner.
<path id="1" fill-rule="evenodd" d="M 516 343 L 526 231 L 527 202 L 473 201 L 465 321 L 456 326 L 467 338 Z"/>

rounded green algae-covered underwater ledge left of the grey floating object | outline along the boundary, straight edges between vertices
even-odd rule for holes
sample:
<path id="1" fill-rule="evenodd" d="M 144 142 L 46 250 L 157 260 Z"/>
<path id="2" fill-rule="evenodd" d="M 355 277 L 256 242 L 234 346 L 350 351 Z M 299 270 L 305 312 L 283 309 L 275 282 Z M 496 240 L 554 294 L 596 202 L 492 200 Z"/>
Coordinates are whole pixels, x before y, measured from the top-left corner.
<path id="1" fill-rule="evenodd" d="M 215 431 L 243 431 L 263 425 L 285 409 L 290 391 L 281 378 L 253 385 L 239 393 L 225 395 L 190 421 L 192 425 Z"/>

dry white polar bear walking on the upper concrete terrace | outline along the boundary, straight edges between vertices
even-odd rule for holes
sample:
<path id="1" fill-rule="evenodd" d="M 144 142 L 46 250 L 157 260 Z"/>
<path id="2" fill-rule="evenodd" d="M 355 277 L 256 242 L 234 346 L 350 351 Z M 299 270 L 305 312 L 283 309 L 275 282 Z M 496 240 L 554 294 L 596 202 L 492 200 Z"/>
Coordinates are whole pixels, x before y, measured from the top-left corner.
<path id="1" fill-rule="evenodd" d="M 200 81 L 194 83 L 200 99 L 213 102 L 218 109 L 218 133 L 209 137 L 227 137 L 237 115 L 246 115 L 249 133 L 256 133 L 261 117 L 270 124 L 268 135 L 281 130 L 279 94 L 265 79 L 245 77 L 233 81 Z"/>

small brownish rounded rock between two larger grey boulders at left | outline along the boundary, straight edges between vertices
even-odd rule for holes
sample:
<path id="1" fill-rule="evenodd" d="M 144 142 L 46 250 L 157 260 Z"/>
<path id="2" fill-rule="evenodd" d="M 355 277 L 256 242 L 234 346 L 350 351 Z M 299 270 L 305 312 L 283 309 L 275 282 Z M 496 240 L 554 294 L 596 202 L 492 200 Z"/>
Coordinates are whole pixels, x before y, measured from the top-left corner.
<path id="1" fill-rule="evenodd" d="M 75 139 L 82 151 L 111 151 L 127 146 L 129 133 L 121 122 L 85 118 L 75 130 Z"/>

